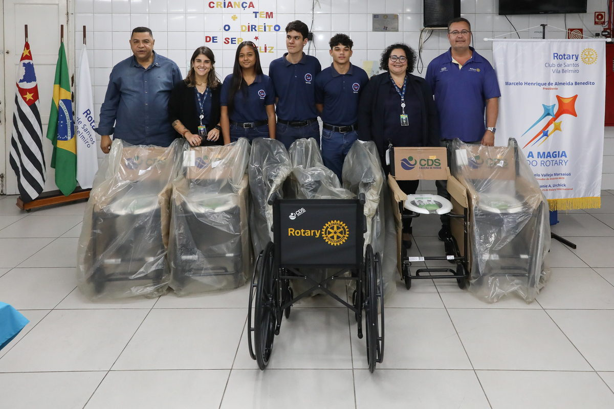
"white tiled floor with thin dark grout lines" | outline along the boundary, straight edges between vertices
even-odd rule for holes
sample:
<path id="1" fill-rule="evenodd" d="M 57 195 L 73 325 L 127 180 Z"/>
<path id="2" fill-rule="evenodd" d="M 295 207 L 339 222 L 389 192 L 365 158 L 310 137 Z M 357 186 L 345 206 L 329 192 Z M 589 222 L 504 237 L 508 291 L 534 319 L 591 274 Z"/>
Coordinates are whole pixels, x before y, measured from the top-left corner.
<path id="1" fill-rule="evenodd" d="M 386 354 L 368 372 L 345 308 L 293 308 L 264 372 L 247 352 L 248 288 L 85 299 L 74 277 L 85 204 L 20 212 L 0 199 L 0 300 L 29 320 L 0 351 L 0 407 L 614 408 L 614 192 L 559 212 L 537 300 L 486 304 L 454 281 L 398 281 Z M 418 218 L 411 255 L 443 253 Z M 343 294 L 341 294 L 343 296 Z"/>

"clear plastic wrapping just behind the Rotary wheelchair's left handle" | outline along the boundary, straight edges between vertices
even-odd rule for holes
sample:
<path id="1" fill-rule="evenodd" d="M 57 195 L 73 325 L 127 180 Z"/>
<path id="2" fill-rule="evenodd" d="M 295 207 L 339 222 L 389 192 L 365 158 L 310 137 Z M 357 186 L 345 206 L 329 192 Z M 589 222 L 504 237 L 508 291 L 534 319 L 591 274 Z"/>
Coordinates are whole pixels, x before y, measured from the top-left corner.
<path id="1" fill-rule="evenodd" d="M 273 207 L 268 204 L 271 194 L 283 197 L 282 186 L 292 172 L 292 162 L 284 144 L 275 139 L 256 138 L 249 156 L 249 189 L 252 195 L 249 226 L 254 254 L 260 254 L 266 243 L 273 240 Z"/>

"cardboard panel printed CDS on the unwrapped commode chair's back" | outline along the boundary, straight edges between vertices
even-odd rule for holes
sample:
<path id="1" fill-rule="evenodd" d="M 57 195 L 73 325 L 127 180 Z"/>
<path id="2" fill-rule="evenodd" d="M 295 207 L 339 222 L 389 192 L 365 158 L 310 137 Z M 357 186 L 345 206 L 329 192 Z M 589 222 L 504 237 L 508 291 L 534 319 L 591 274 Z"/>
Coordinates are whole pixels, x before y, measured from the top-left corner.
<path id="1" fill-rule="evenodd" d="M 390 174 L 397 180 L 446 180 L 449 175 L 446 148 L 393 147 Z"/>

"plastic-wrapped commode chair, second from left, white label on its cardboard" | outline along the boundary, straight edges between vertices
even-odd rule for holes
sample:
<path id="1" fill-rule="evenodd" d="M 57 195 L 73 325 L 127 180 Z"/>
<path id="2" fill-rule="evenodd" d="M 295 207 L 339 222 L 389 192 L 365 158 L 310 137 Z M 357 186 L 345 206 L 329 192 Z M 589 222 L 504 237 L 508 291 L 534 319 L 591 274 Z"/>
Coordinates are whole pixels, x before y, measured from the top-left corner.
<path id="1" fill-rule="evenodd" d="M 237 288 L 251 275 L 247 139 L 190 147 L 173 181 L 168 260 L 179 296 Z"/>

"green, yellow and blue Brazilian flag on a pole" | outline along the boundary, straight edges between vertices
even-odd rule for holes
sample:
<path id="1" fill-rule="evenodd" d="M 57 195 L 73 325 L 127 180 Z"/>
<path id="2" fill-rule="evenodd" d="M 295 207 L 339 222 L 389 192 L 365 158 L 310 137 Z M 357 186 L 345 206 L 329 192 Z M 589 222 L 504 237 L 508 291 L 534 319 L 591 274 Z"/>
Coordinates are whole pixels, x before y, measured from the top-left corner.
<path id="1" fill-rule="evenodd" d="M 55 184 L 64 196 L 77 187 L 77 140 L 72 118 L 71 85 L 64 43 L 60 45 L 58 63 L 55 66 L 53 101 L 49 113 L 47 139 L 53 143 L 51 167 L 55 169 Z"/>

